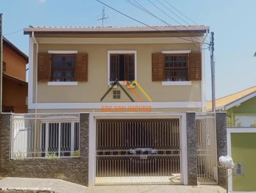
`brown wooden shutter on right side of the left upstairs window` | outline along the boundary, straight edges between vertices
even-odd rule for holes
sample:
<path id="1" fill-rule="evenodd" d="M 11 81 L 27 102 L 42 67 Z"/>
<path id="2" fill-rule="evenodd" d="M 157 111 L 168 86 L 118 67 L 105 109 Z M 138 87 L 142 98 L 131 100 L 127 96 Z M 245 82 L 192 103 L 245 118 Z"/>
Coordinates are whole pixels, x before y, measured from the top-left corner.
<path id="1" fill-rule="evenodd" d="M 78 53 L 76 56 L 76 81 L 88 81 L 88 54 Z"/>

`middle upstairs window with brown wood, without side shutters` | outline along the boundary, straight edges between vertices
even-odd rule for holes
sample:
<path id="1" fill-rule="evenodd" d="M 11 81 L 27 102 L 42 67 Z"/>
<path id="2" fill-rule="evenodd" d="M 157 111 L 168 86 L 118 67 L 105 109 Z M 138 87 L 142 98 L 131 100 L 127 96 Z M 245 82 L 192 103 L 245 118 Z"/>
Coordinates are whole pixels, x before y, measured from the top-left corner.
<path id="1" fill-rule="evenodd" d="M 134 54 L 110 54 L 109 81 L 134 81 Z"/>

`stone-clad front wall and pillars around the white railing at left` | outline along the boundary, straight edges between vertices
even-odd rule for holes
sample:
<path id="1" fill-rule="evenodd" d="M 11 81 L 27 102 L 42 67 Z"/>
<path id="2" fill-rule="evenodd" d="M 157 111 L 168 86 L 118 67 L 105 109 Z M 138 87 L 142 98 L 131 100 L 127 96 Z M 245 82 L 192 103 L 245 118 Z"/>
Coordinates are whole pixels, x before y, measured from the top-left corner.
<path id="1" fill-rule="evenodd" d="M 10 160 L 10 114 L 2 114 L 0 175 L 27 178 L 58 178 L 88 185 L 89 114 L 80 114 L 80 157 Z"/>

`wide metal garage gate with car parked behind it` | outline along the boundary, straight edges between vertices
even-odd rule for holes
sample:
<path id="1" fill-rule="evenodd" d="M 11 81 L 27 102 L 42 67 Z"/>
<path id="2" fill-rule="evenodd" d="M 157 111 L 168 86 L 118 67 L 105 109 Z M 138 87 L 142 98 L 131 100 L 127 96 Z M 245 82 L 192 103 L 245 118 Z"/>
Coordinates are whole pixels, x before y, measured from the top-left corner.
<path id="1" fill-rule="evenodd" d="M 181 183 L 179 121 L 97 120 L 95 184 Z"/>

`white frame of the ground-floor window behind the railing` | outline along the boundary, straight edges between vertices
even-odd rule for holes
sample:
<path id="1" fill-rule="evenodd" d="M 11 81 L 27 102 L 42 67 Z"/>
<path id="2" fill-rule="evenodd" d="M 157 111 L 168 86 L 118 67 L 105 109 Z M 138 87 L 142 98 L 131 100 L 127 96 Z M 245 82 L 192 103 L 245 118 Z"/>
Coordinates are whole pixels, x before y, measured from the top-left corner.
<path id="1" fill-rule="evenodd" d="M 45 158 L 48 156 L 48 147 L 49 147 L 49 123 L 58 123 L 58 132 L 59 132 L 59 137 L 58 137 L 58 158 L 67 158 L 67 157 L 73 157 L 72 153 L 74 153 L 74 134 L 75 134 L 75 124 L 79 123 L 79 121 L 42 121 L 41 123 L 41 132 L 42 132 L 42 125 L 45 124 Z M 60 155 L 60 146 L 61 146 L 61 123 L 71 123 L 71 136 L 70 136 L 70 156 L 61 156 Z M 80 157 L 80 128 L 79 128 L 79 137 L 78 137 L 78 144 L 79 144 L 79 155 Z M 40 145 L 42 145 L 42 136 L 40 137 Z"/>

